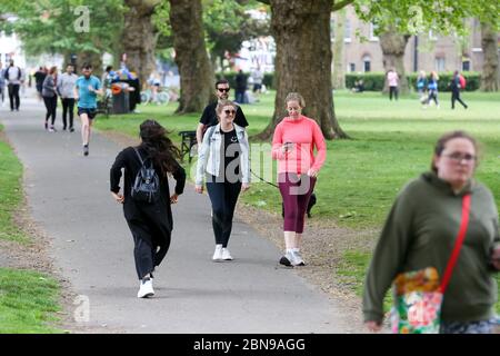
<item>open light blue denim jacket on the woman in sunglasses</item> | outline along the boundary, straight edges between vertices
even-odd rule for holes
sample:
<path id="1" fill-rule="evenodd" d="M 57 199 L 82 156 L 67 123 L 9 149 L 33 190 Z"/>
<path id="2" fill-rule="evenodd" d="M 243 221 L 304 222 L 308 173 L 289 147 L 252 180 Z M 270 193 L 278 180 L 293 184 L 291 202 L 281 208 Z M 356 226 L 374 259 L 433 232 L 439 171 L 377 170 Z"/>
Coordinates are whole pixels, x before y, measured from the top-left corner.
<path id="1" fill-rule="evenodd" d="M 250 182 L 250 158 L 249 158 L 249 144 L 248 135 L 244 128 L 236 123 L 234 129 L 237 131 L 238 141 L 241 148 L 240 156 L 240 171 L 241 171 L 241 182 Z M 213 130 L 211 132 L 211 130 Z M 203 136 L 203 142 L 201 148 L 198 150 L 198 164 L 197 164 L 197 179 L 196 185 L 201 186 L 204 180 L 204 175 L 208 172 L 212 176 L 219 176 L 220 169 L 220 150 L 222 146 L 222 136 L 220 134 L 220 123 L 214 127 L 209 127 Z"/>

